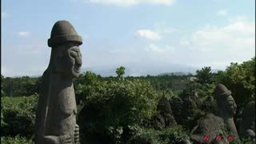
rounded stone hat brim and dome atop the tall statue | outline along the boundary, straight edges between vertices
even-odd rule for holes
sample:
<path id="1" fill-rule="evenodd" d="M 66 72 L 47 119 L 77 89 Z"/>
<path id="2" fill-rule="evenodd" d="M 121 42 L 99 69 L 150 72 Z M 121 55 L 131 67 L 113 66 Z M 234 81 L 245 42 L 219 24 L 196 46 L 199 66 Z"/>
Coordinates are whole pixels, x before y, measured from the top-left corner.
<path id="1" fill-rule="evenodd" d="M 62 20 L 54 24 L 48 39 L 48 46 L 58 46 L 64 42 L 77 42 L 78 45 L 82 45 L 82 37 L 77 34 L 70 22 Z"/>

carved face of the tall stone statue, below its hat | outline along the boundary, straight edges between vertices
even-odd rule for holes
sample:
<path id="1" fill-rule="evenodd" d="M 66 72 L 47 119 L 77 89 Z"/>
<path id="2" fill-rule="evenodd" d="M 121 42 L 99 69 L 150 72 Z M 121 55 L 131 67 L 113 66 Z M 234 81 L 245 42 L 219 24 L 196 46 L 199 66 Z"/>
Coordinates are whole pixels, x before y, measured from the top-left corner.
<path id="1" fill-rule="evenodd" d="M 57 49 L 59 52 L 54 62 L 55 70 L 68 78 L 78 78 L 82 66 L 82 54 L 78 44 L 68 42 Z"/>

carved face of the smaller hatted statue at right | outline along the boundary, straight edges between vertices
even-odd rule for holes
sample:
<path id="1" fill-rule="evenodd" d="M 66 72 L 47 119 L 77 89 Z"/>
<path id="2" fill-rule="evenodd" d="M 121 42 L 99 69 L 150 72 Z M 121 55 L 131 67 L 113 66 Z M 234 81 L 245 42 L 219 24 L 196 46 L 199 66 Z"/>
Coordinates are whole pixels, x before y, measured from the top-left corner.
<path id="1" fill-rule="evenodd" d="M 230 116 L 236 114 L 237 105 L 235 104 L 234 98 L 231 95 L 226 98 L 226 101 L 224 102 L 224 109 L 226 109 L 226 114 L 229 114 Z"/>

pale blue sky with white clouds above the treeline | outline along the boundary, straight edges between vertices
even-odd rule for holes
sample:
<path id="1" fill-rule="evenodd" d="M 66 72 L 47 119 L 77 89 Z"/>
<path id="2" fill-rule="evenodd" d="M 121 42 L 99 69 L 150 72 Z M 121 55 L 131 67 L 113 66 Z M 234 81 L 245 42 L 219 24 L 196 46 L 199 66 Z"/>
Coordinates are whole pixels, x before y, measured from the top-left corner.
<path id="1" fill-rule="evenodd" d="M 98 74 L 225 70 L 255 55 L 254 0 L 2 0 L 1 15 L 4 76 L 41 75 L 62 19 L 83 38 L 83 69 Z"/>

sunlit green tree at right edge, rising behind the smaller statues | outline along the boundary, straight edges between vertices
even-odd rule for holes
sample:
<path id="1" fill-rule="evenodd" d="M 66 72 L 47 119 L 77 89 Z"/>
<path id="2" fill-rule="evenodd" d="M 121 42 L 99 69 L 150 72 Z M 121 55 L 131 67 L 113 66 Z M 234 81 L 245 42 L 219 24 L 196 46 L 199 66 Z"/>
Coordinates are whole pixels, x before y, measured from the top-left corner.
<path id="1" fill-rule="evenodd" d="M 242 110 L 248 102 L 255 100 L 255 57 L 241 64 L 231 62 L 225 71 L 218 71 L 215 80 L 231 90 L 238 110 Z"/>

